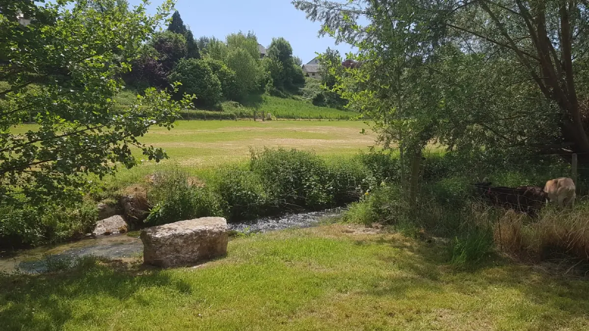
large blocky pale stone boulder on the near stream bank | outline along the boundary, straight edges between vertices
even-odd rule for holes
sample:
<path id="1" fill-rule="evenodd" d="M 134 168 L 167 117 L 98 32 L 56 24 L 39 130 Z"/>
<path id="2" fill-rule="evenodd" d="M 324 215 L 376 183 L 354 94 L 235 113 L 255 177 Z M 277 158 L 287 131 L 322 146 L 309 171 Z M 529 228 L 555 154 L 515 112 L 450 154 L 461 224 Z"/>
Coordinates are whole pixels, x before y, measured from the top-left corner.
<path id="1" fill-rule="evenodd" d="M 145 264 L 192 266 L 227 254 L 229 228 L 223 217 L 203 217 L 145 229 L 141 241 Z"/>

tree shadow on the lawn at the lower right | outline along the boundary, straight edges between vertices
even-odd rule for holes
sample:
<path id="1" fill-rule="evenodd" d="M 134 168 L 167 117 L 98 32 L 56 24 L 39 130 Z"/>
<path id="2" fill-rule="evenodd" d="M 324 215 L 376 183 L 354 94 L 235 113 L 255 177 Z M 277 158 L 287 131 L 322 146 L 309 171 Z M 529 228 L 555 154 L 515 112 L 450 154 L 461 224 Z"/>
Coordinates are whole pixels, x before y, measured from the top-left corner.
<path id="1" fill-rule="evenodd" d="M 521 293 L 523 297 L 539 306 L 547 307 L 546 315 L 554 318 L 587 318 L 589 312 L 589 279 L 566 275 L 538 272 L 532 266 L 510 262 L 499 256 L 492 256 L 482 264 L 467 269 L 456 269 L 448 264 L 449 250 L 443 244 L 412 242 L 396 239 L 378 239 L 374 243 L 392 249 L 400 254 L 380 254 L 383 263 L 395 264 L 401 270 L 409 271 L 408 276 L 389 277 L 380 286 L 374 286 L 364 293 L 375 297 L 406 298 L 411 290 L 426 290 L 429 293 L 461 294 L 484 296 L 497 289 L 509 293 Z M 427 299 L 427 298 L 424 298 Z M 524 315 L 528 307 L 514 307 L 514 312 Z M 549 313 L 551 312 L 551 313 Z M 550 325 L 550 317 L 541 320 Z"/>

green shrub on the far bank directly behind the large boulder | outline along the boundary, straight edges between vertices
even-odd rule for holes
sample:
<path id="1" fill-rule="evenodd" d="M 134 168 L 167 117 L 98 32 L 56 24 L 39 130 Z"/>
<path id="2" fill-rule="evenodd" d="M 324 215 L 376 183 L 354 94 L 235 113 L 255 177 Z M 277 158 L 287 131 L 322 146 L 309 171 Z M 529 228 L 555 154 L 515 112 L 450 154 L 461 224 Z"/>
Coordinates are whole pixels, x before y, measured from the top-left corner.
<path id="1" fill-rule="evenodd" d="M 157 178 L 148 192 L 153 207 L 145 223 L 158 225 L 223 214 L 220 197 L 208 187 L 190 183 L 186 173 L 170 170 Z"/>

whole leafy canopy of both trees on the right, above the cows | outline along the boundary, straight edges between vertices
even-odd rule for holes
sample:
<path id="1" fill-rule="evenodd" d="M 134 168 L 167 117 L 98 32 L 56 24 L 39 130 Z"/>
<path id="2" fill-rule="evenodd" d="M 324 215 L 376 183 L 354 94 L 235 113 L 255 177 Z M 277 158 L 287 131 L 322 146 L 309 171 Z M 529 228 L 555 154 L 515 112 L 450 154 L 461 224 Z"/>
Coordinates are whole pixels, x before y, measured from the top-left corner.
<path id="1" fill-rule="evenodd" d="M 587 2 L 293 3 L 320 34 L 358 47 L 334 89 L 375 118 L 383 142 L 589 161 Z"/>

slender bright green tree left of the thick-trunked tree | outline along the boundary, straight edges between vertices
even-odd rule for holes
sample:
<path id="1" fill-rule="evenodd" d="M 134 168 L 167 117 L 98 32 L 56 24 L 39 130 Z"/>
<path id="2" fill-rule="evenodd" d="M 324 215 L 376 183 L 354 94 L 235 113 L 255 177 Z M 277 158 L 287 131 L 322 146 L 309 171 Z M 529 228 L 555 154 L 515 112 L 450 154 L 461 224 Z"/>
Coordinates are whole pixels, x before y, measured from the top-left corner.
<path id="1" fill-rule="evenodd" d="M 305 1 L 296 5 L 300 9 L 317 8 Z M 438 63 L 435 52 L 438 39 L 427 16 L 429 8 L 411 6 L 408 1 L 391 1 L 386 6 L 372 2 L 368 8 L 352 9 L 337 4 L 337 9 L 352 12 L 341 14 L 346 18 L 338 13 L 339 21 L 326 22 L 325 29 L 335 26 L 342 29 L 336 32 L 340 33 L 337 38 L 359 48 L 352 59 L 362 65 L 347 69 L 346 75 L 330 65 L 327 69 L 335 77 L 334 90 L 349 100 L 350 107 L 373 121 L 379 143 L 385 148 L 398 146 L 401 181 L 405 184 L 409 160 L 434 138 L 436 115 L 443 105 L 443 95 L 436 84 L 438 77 L 432 77 L 435 75 L 430 72 Z M 332 10 L 337 9 L 326 10 L 333 14 Z M 369 27 L 355 23 L 360 11 L 367 13 Z M 317 17 L 329 14 L 318 13 Z M 335 55 L 332 52 L 327 57 Z"/>

